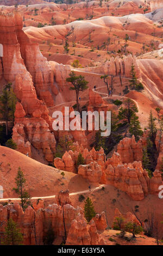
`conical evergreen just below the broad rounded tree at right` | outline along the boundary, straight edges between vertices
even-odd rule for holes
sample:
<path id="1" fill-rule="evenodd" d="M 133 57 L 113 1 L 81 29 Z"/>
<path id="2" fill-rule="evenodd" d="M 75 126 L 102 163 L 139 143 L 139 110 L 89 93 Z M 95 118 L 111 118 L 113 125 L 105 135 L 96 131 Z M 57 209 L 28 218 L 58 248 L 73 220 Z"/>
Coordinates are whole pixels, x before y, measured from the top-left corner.
<path id="1" fill-rule="evenodd" d="M 133 114 L 133 117 L 131 117 L 129 132 L 131 133 L 131 135 L 135 136 L 136 141 L 138 141 L 139 137 L 143 135 L 143 131 L 141 130 L 139 122 L 139 117 L 137 117 L 135 113 Z"/>

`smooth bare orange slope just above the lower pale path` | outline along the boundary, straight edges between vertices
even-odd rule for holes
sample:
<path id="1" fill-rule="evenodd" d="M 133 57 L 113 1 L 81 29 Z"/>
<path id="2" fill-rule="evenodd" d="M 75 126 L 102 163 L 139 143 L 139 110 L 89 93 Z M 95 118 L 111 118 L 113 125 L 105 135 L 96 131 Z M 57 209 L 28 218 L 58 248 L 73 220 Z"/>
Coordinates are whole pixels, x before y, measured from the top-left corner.
<path id="1" fill-rule="evenodd" d="M 17 198 L 12 188 L 15 187 L 18 167 L 21 167 L 24 173 L 31 196 L 52 196 L 67 188 L 70 192 L 82 191 L 87 190 L 89 186 L 86 180 L 77 174 L 65 172 L 65 178 L 62 179 L 58 169 L 7 147 L 0 146 L 0 163 L 0 185 L 3 186 L 4 197 Z"/>

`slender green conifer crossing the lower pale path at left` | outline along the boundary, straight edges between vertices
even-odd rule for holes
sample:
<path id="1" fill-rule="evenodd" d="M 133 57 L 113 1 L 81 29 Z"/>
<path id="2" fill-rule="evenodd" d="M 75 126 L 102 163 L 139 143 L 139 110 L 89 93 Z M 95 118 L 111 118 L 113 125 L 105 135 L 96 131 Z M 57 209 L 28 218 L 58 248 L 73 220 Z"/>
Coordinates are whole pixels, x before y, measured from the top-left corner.
<path id="1" fill-rule="evenodd" d="M 30 204 L 30 196 L 29 196 L 29 193 L 24 188 L 26 186 L 26 179 L 24 178 L 24 174 L 20 167 L 18 167 L 18 172 L 17 172 L 16 178 L 15 178 L 15 183 L 16 183 L 17 187 L 13 188 L 13 190 L 15 190 L 15 192 L 18 195 L 20 195 L 21 206 L 24 211 Z"/>

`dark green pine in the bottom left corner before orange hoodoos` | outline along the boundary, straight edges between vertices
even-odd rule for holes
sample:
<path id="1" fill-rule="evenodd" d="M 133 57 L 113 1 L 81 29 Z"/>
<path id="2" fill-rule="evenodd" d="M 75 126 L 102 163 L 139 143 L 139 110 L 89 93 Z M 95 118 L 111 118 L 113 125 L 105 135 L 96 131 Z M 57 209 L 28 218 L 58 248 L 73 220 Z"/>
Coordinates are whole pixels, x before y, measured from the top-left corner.
<path id="1" fill-rule="evenodd" d="M 17 224 L 9 218 L 7 227 L 5 228 L 3 245 L 22 245 L 23 235 Z"/>

